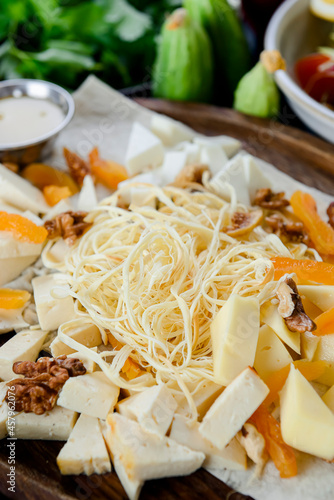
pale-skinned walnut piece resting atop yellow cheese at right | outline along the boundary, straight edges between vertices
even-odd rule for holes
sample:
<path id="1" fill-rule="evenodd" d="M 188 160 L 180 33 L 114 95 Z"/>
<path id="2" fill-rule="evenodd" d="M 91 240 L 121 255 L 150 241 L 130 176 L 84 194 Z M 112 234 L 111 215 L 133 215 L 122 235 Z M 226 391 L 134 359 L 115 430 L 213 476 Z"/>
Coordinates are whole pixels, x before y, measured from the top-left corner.
<path id="1" fill-rule="evenodd" d="M 316 324 L 307 316 L 292 278 L 286 278 L 277 288 L 278 312 L 291 332 L 312 332 Z"/>

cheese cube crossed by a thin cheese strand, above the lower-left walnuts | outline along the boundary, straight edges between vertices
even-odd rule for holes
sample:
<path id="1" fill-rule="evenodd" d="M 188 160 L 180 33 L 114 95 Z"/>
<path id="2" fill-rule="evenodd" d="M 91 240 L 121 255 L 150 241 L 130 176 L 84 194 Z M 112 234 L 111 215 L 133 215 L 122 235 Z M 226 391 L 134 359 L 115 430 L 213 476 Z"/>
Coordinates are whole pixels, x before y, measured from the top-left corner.
<path id="1" fill-rule="evenodd" d="M 97 347 L 102 344 L 101 332 L 96 325 L 85 323 L 83 325 L 76 326 L 71 330 L 67 330 L 66 334 L 72 339 L 80 342 L 80 344 L 86 347 Z M 75 349 L 68 347 L 64 342 L 56 337 L 50 344 L 51 354 L 55 358 L 57 356 L 62 356 L 63 354 L 72 354 Z"/>

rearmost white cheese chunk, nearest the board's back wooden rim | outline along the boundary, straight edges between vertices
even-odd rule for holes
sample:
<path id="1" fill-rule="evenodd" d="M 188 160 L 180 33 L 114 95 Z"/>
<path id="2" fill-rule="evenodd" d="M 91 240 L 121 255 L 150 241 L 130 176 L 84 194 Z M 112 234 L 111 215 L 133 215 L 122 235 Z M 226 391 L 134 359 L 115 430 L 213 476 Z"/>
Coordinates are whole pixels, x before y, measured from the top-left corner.
<path id="1" fill-rule="evenodd" d="M 195 135 L 195 132 L 183 123 L 158 114 L 152 116 L 150 128 L 167 147 L 173 147 L 182 141 L 191 141 Z"/>

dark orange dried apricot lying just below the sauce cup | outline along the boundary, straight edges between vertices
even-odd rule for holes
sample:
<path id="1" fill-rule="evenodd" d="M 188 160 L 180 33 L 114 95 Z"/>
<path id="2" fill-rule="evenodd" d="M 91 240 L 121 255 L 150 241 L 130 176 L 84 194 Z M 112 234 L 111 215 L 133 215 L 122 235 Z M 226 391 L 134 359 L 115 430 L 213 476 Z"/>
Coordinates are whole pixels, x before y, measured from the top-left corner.
<path id="1" fill-rule="evenodd" d="M 31 163 L 23 170 L 22 177 L 41 190 L 46 186 L 67 186 L 71 194 L 79 191 L 78 185 L 70 175 L 44 163 Z"/>

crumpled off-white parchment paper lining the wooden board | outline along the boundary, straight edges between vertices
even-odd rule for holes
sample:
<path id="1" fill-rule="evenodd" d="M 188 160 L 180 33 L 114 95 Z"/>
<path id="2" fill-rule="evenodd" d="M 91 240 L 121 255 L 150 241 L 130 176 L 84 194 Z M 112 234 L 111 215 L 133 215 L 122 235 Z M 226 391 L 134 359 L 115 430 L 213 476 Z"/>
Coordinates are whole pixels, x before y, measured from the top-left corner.
<path id="1" fill-rule="evenodd" d="M 98 146 L 102 157 L 124 163 L 130 130 L 134 121 L 149 126 L 149 111 L 119 92 L 90 76 L 74 93 L 76 112 L 72 122 L 60 134 L 50 163 L 64 167 L 64 146 L 86 157 Z M 259 164 L 275 185 L 275 191 L 285 191 L 289 196 L 296 189 L 311 193 L 317 200 L 320 213 L 332 197 L 295 181 L 262 160 Z M 298 476 L 281 479 L 272 462 L 268 463 L 261 479 L 254 479 L 253 468 L 245 472 L 211 470 L 210 472 L 231 488 L 255 500 L 333 500 L 334 465 L 303 453 L 297 454 Z M 233 500 L 233 492 L 229 498 Z"/>

